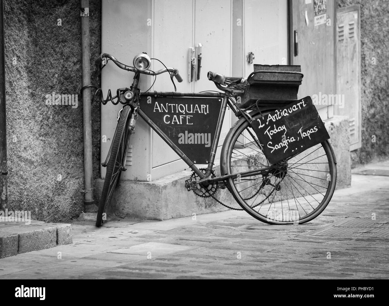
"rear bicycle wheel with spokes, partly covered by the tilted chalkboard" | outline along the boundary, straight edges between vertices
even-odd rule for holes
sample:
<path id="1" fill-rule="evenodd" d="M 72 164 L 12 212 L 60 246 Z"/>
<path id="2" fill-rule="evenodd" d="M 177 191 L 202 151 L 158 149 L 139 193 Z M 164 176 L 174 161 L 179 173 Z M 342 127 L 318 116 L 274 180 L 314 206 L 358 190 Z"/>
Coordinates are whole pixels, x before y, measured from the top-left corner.
<path id="1" fill-rule="evenodd" d="M 260 117 L 256 115 L 254 120 Z M 254 130 L 248 122 L 242 122 L 228 144 L 227 174 L 270 165 Z M 328 141 L 261 174 L 227 180 L 239 205 L 252 217 L 269 224 L 305 223 L 319 216 L 331 200 L 335 184 L 335 156 Z"/>

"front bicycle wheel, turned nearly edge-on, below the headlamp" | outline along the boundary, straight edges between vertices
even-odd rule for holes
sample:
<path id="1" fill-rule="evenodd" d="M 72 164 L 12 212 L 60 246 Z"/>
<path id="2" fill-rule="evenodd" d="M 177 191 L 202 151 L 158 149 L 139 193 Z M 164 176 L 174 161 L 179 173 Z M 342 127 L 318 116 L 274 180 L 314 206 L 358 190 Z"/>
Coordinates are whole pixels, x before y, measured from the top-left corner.
<path id="1" fill-rule="evenodd" d="M 107 220 L 107 209 L 111 202 L 116 184 L 120 179 L 122 165 L 125 163 L 126 150 L 128 148 L 128 142 L 130 141 L 127 120 L 130 110 L 130 106 L 124 106 L 119 122 L 117 123 L 116 135 L 112 145 L 111 155 L 107 163 L 107 173 L 105 174 L 103 191 L 98 207 L 96 226 L 102 226 Z"/>

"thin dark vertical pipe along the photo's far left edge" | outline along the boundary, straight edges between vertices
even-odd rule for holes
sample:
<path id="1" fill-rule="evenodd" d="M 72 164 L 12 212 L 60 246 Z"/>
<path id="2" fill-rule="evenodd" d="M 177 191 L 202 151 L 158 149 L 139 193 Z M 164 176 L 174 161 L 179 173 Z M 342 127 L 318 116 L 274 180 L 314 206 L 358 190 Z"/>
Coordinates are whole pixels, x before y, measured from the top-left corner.
<path id="1" fill-rule="evenodd" d="M 7 207 L 7 122 L 5 113 L 4 6 L 0 0 L 0 210 Z"/>

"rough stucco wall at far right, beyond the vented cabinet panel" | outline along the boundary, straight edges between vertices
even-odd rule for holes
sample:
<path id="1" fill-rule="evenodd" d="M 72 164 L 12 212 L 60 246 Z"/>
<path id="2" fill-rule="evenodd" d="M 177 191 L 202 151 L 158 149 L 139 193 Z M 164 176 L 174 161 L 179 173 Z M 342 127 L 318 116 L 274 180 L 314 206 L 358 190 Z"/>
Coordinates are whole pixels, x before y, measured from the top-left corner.
<path id="1" fill-rule="evenodd" d="M 355 167 L 389 156 L 389 1 L 337 1 L 339 8 L 361 6 L 362 147 L 351 152 Z"/>

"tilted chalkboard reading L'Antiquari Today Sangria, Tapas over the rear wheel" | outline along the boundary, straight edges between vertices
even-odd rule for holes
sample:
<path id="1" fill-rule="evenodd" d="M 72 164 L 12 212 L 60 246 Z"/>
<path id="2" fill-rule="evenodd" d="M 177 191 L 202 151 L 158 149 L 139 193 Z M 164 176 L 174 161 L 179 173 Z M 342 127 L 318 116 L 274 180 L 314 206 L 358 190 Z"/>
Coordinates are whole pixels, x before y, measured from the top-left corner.
<path id="1" fill-rule="evenodd" d="M 272 164 L 329 139 L 311 97 L 296 100 L 254 120 L 252 127 Z"/>

